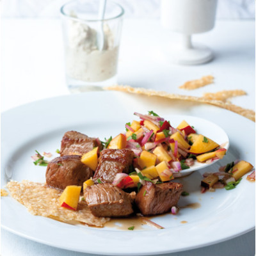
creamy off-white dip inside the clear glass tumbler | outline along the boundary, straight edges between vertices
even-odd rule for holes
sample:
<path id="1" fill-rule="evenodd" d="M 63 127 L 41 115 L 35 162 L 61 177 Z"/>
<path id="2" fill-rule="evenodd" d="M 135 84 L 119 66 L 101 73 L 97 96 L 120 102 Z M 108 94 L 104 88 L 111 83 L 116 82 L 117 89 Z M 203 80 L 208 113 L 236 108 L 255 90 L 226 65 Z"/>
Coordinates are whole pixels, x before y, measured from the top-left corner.
<path id="1" fill-rule="evenodd" d="M 66 45 L 67 75 L 86 82 L 99 82 L 116 74 L 118 46 L 109 26 L 104 24 L 104 49 L 97 49 L 97 31 L 88 25 L 69 20 Z"/>

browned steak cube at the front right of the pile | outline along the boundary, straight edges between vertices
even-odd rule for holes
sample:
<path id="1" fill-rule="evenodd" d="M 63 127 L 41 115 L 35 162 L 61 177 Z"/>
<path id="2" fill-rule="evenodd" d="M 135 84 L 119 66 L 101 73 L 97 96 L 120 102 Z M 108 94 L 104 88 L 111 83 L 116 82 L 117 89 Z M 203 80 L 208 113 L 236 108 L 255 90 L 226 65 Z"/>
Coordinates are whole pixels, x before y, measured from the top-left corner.
<path id="1" fill-rule="evenodd" d="M 155 185 L 147 181 L 136 195 L 135 203 L 145 216 L 161 214 L 177 205 L 181 193 L 180 183 L 166 182 Z"/>

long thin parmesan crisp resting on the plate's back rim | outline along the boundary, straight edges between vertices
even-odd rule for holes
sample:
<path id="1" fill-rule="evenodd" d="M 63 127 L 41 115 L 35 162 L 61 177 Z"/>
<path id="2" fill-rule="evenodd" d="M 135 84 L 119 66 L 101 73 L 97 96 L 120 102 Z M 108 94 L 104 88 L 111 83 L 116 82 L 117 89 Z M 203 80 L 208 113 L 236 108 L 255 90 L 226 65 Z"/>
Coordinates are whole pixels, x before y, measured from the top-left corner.
<path id="1" fill-rule="evenodd" d="M 255 111 L 251 109 L 244 109 L 234 104 L 231 104 L 230 102 L 223 102 L 221 100 L 210 100 L 210 99 L 205 99 L 204 97 L 193 97 L 193 96 L 179 95 L 179 94 L 173 94 L 173 93 L 167 93 L 167 92 L 157 92 L 155 90 L 147 90 L 145 88 L 133 88 L 132 86 L 129 86 L 129 85 L 116 84 L 113 86 L 104 87 L 104 90 L 137 93 L 137 94 L 142 94 L 147 96 L 158 96 L 158 97 L 164 97 L 168 99 L 189 100 L 193 102 L 211 104 L 214 106 L 218 106 L 220 108 L 225 108 L 230 111 L 233 111 L 255 122 Z"/>

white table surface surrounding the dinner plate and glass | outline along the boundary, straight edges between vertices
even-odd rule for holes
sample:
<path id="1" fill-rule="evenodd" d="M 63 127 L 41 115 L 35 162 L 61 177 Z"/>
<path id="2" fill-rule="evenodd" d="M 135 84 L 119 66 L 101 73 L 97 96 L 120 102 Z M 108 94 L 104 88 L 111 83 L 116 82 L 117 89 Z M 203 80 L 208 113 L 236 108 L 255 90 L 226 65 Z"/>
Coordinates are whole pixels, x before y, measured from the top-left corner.
<path id="1" fill-rule="evenodd" d="M 61 23 L 58 19 L 2 19 L 1 111 L 58 95 L 65 86 Z M 125 20 L 118 83 L 200 96 L 204 92 L 243 89 L 248 95 L 234 104 L 255 110 L 255 22 L 220 20 L 212 31 L 193 36 L 214 50 L 210 63 L 172 65 L 164 49 L 179 43 L 179 35 L 161 28 L 158 20 Z M 215 83 L 195 91 L 180 90 L 184 82 L 211 74 Z M 88 255 L 39 244 L 1 230 L 1 255 Z M 255 255 L 255 231 L 185 255 Z"/>

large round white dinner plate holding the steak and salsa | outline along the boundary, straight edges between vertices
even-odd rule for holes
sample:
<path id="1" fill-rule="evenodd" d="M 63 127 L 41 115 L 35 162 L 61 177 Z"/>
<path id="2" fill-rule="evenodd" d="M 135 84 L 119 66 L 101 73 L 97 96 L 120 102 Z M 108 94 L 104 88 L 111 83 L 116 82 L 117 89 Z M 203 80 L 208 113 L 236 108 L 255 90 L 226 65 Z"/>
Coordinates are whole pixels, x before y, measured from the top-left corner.
<path id="1" fill-rule="evenodd" d="M 41 100 L 6 111 L 2 114 L 1 129 L 1 188 L 9 179 L 44 182 L 45 167 L 35 166 L 31 156 L 35 150 L 55 152 L 66 131 L 79 131 L 104 140 L 124 131 L 124 124 L 136 118 L 134 111 L 147 113 L 149 110 L 170 119 L 173 126 L 186 118 L 196 130 L 216 141 L 223 129 L 230 142 L 227 155 L 218 163 L 179 180 L 189 192 L 180 198 L 179 213 L 150 219 L 164 229 L 135 225 L 134 230 L 124 231 L 120 227 L 68 225 L 31 215 L 11 196 L 1 198 L 3 228 L 39 243 L 102 255 L 179 252 L 219 243 L 252 230 L 255 183 L 244 177 L 236 189 L 216 189 L 202 194 L 200 180 L 202 173 L 216 172 L 221 165 L 236 159 L 255 164 L 255 123 L 225 109 L 195 102 L 120 92 L 90 92 Z M 200 118 L 213 123 L 215 134 L 208 133 L 212 127 L 209 131 L 203 129 L 204 121 Z"/>

